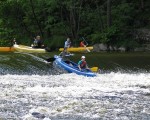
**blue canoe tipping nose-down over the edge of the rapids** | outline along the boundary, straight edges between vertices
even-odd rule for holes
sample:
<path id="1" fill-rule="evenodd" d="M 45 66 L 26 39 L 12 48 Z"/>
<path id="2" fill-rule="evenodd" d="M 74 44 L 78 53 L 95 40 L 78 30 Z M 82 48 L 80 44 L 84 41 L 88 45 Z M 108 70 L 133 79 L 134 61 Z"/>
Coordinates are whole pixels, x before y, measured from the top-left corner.
<path id="1" fill-rule="evenodd" d="M 84 75 L 87 77 L 96 76 L 96 74 L 93 73 L 89 69 L 82 69 L 80 71 L 78 68 L 78 64 L 76 64 L 70 60 L 64 60 L 60 56 L 57 56 L 57 55 L 55 55 L 54 58 L 55 58 L 55 61 L 54 61 L 55 66 L 57 66 L 60 69 L 67 71 L 68 73 L 76 73 L 78 75 Z"/>

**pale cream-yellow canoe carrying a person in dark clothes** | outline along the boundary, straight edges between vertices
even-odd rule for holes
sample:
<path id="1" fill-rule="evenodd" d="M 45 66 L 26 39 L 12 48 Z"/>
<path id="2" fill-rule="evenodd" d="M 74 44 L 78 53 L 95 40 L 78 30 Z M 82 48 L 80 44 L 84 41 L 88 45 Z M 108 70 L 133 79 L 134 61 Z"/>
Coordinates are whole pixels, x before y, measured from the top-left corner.
<path id="1" fill-rule="evenodd" d="M 32 48 L 25 45 L 14 45 L 15 51 L 25 52 L 25 53 L 46 53 L 45 49 L 42 48 Z"/>

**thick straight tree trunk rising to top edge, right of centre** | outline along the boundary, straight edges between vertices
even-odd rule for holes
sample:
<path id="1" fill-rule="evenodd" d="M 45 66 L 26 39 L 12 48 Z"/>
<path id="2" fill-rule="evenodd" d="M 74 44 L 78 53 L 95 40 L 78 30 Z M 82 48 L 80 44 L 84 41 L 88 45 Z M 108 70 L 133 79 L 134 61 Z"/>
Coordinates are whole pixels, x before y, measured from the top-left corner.
<path id="1" fill-rule="evenodd" d="M 111 0 L 107 0 L 107 27 L 110 27 L 111 23 Z"/>

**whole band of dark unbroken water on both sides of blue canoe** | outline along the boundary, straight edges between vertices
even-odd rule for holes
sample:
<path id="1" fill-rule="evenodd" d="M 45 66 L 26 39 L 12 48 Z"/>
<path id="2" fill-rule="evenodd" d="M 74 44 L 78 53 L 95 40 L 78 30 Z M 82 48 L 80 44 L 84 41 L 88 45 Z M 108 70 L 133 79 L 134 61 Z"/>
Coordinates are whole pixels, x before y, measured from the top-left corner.
<path id="1" fill-rule="evenodd" d="M 0 53 L 0 74 L 56 74 L 52 64 L 45 59 L 59 53 L 22 54 Z M 149 72 L 150 53 L 75 53 L 70 57 L 78 62 L 82 55 L 86 56 L 90 67 L 97 66 L 100 72 Z"/>

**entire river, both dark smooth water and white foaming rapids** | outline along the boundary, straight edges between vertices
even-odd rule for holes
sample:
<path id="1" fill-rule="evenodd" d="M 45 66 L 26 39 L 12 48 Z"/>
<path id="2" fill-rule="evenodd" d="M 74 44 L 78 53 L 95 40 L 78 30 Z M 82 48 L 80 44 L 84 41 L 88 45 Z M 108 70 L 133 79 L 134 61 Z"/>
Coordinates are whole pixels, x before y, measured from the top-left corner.
<path id="1" fill-rule="evenodd" d="M 96 77 L 60 74 L 54 54 L 0 53 L 0 119 L 150 119 L 149 53 L 84 54 Z"/>

